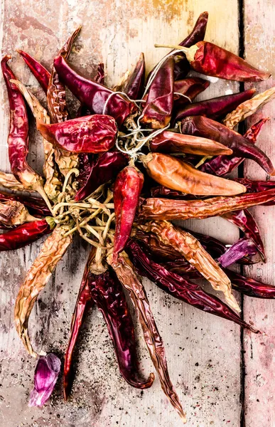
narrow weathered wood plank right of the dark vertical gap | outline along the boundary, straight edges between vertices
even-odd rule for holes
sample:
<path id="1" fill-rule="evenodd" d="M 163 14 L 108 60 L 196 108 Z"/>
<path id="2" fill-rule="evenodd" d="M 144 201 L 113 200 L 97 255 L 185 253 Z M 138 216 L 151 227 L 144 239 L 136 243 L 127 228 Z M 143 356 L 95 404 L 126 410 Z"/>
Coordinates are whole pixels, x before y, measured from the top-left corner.
<path id="1" fill-rule="evenodd" d="M 244 1 L 244 47 L 247 60 L 264 70 L 275 74 L 274 48 L 274 4 L 271 1 Z M 271 88 L 274 80 L 257 84 L 260 91 Z M 275 162 L 274 150 L 275 103 L 266 105 L 247 125 L 257 122 L 260 117 L 271 117 L 259 138 L 257 145 Z M 251 179 L 269 179 L 254 162 L 245 165 L 245 176 Z M 259 224 L 266 247 L 267 263 L 246 268 L 246 274 L 264 283 L 274 284 L 274 207 L 252 209 Z M 274 409 L 274 301 L 244 298 L 244 317 L 254 322 L 266 335 L 244 335 L 245 361 L 245 425 L 247 427 L 271 427 L 275 424 Z"/>

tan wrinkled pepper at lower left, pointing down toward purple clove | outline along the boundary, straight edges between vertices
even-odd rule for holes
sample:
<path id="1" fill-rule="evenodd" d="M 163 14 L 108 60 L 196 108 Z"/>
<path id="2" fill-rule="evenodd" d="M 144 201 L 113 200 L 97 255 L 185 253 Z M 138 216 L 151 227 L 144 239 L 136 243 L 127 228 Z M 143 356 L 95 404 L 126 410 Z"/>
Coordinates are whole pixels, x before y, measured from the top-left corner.
<path id="1" fill-rule="evenodd" d="M 55 228 L 43 243 L 41 252 L 30 270 L 28 270 L 16 298 L 14 309 L 16 331 L 27 351 L 33 357 L 36 357 L 37 353 L 33 350 L 31 339 L 28 335 L 28 318 L 39 293 L 45 288 L 55 266 L 72 241 L 71 235 L 64 236 L 66 231 L 68 231 L 66 226 Z"/>

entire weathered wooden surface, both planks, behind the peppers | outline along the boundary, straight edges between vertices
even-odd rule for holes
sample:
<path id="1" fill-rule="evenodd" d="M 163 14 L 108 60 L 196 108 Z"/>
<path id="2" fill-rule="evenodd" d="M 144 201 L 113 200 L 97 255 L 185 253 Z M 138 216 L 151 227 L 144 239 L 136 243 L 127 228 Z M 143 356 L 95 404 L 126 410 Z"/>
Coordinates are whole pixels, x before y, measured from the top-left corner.
<path id="1" fill-rule="evenodd" d="M 272 1 L 245 0 L 244 6 L 240 19 L 241 23 L 244 19 L 247 59 L 275 75 Z M 97 63 L 103 61 L 107 83 L 113 85 L 135 62 L 140 51 L 144 51 L 146 65 L 151 68 L 164 53 L 153 48 L 153 44 L 178 43 L 205 10 L 210 13 L 206 39 L 238 53 L 237 0 L 1 0 L 0 43 L 2 53 L 13 54 L 11 66 L 18 78 L 45 105 L 38 83 L 16 54 L 16 48 L 28 51 L 50 68 L 58 48 L 81 23 L 82 33 L 70 61 L 87 76 L 93 75 Z M 264 90 L 271 85 L 269 80 L 257 88 Z M 239 84 L 219 80 L 210 85 L 203 97 L 224 95 L 230 90 L 237 92 Z M 0 167 L 8 172 L 9 110 L 2 80 L 0 95 Z M 274 103 L 265 107 L 264 115 L 275 117 Z M 273 129 L 274 120 L 271 120 L 259 139 L 259 146 L 275 161 Z M 41 170 L 42 159 L 41 137 L 31 132 L 31 164 Z M 265 179 L 255 163 L 248 163 L 245 172 L 249 177 Z M 247 274 L 273 283 L 274 208 L 257 208 L 254 213 L 266 243 L 268 262 L 256 265 Z M 190 221 L 188 226 L 226 243 L 233 243 L 239 237 L 236 227 L 219 218 Z M 90 313 L 83 328 L 70 401 L 63 402 L 59 381 L 48 404 L 43 408 L 28 408 L 36 361 L 26 356 L 14 329 L 13 313 L 21 280 L 40 246 L 38 241 L 31 247 L 0 255 L 0 426 L 180 426 L 158 379 L 144 392 L 132 389 L 122 380 L 107 328 L 97 310 Z M 86 243 L 75 239 L 53 280 L 39 297 L 30 322 L 31 336 L 38 349 L 64 354 L 86 256 Z M 274 302 L 244 298 L 245 320 L 254 322 L 267 335 L 242 337 L 236 325 L 183 305 L 148 281 L 144 285 L 166 344 L 171 379 L 188 414 L 188 426 L 256 427 L 261 422 L 264 427 L 274 427 Z M 152 365 L 140 333 L 139 342 L 141 367 L 148 374 Z"/>

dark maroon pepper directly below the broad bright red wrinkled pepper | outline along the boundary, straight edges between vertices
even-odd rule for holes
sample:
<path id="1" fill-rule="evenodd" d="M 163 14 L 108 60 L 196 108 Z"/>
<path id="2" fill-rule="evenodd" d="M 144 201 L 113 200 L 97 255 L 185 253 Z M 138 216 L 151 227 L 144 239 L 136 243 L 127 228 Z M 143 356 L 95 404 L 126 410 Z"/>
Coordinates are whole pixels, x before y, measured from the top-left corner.
<path id="1" fill-rule="evenodd" d="M 75 200 L 80 201 L 90 196 L 93 191 L 105 182 L 114 179 L 128 164 L 129 157 L 122 152 L 107 152 L 102 154 L 90 168 L 85 184 L 77 191 Z"/>

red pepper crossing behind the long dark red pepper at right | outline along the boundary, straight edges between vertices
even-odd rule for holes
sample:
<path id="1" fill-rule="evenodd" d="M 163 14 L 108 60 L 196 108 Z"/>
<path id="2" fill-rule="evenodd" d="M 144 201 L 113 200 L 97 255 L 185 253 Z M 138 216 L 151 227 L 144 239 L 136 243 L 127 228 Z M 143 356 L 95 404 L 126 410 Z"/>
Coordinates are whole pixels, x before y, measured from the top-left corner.
<path id="1" fill-rule="evenodd" d="M 255 123 L 252 127 L 247 130 L 244 134 L 244 138 L 248 139 L 249 142 L 255 144 L 257 137 L 259 136 L 259 132 L 261 131 L 261 127 L 264 123 L 267 122 L 269 118 L 264 118 L 259 120 L 259 122 Z M 203 172 L 207 172 L 208 174 L 215 174 L 218 176 L 222 176 L 225 174 L 229 174 L 234 169 L 239 167 L 240 164 L 244 161 L 244 157 L 237 157 L 234 154 L 230 157 L 228 156 L 218 156 L 215 159 L 211 159 L 208 162 L 205 162 L 200 170 Z"/>

